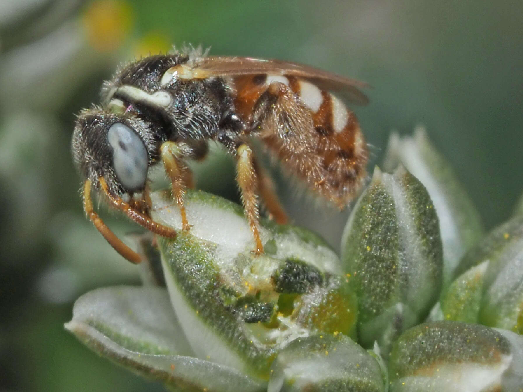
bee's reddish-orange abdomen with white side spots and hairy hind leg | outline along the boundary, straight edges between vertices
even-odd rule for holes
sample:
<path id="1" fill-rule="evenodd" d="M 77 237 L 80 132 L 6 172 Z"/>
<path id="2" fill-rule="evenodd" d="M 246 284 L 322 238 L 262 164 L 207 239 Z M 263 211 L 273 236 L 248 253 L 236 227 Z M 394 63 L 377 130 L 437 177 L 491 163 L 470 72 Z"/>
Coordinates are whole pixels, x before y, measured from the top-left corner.
<path id="1" fill-rule="evenodd" d="M 236 108 L 260 123 L 259 136 L 289 171 L 340 207 L 354 198 L 366 178 L 368 153 L 358 120 L 342 100 L 285 74 L 237 78 L 236 89 Z"/>

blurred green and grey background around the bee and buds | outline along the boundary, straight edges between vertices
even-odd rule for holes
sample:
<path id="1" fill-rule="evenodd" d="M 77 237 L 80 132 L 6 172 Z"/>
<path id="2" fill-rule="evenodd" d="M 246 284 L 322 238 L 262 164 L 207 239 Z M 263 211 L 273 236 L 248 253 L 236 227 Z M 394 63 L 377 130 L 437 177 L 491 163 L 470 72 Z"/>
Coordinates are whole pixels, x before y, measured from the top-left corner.
<path id="1" fill-rule="evenodd" d="M 523 190 L 522 21 L 520 0 L 0 0 L 0 390 L 163 390 L 63 329 L 82 293 L 139 282 L 85 220 L 70 155 L 74 114 L 118 63 L 193 43 L 365 80 L 371 103 L 354 109 L 372 164 L 392 129 L 424 124 L 490 229 Z M 198 186 L 234 198 L 220 167 Z M 295 222 L 317 221 L 284 200 Z M 134 227 L 102 214 L 118 234 Z"/>

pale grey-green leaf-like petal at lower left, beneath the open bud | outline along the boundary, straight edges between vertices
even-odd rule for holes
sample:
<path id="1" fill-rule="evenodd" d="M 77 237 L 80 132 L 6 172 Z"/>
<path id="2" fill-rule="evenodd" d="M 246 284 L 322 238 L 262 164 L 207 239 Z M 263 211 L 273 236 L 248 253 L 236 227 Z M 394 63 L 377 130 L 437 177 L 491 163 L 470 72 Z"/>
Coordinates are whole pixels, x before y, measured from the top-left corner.
<path id="1" fill-rule="evenodd" d="M 161 287 L 118 286 L 78 298 L 65 325 L 89 348 L 106 358 L 187 391 L 263 391 L 257 381 L 223 365 L 193 358 Z"/>

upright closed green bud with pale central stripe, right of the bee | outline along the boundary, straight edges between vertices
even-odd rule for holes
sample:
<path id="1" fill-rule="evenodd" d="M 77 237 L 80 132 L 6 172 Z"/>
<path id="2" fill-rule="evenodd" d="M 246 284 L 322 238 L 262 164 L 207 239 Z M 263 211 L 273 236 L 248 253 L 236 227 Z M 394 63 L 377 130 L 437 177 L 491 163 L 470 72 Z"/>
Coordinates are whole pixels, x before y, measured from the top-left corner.
<path id="1" fill-rule="evenodd" d="M 422 321 L 441 289 L 442 250 L 434 205 L 413 175 L 374 170 L 342 241 L 345 273 L 358 298 L 358 341 L 387 351 Z"/>

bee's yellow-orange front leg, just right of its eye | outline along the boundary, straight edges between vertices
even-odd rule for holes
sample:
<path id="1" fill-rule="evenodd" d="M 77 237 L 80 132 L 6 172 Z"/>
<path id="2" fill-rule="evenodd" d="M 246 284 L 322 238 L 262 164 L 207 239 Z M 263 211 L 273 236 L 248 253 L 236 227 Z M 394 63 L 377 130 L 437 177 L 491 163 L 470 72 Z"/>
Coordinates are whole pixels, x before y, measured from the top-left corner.
<path id="1" fill-rule="evenodd" d="M 185 214 L 184 197 L 187 188 L 185 181 L 192 176 L 190 176 L 189 168 L 181 160 L 181 157 L 184 156 L 182 146 L 174 142 L 165 142 L 160 147 L 160 156 L 172 183 L 173 198 L 180 209 L 181 227 L 184 232 L 188 232 L 191 226 L 187 222 L 187 215 Z"/>

